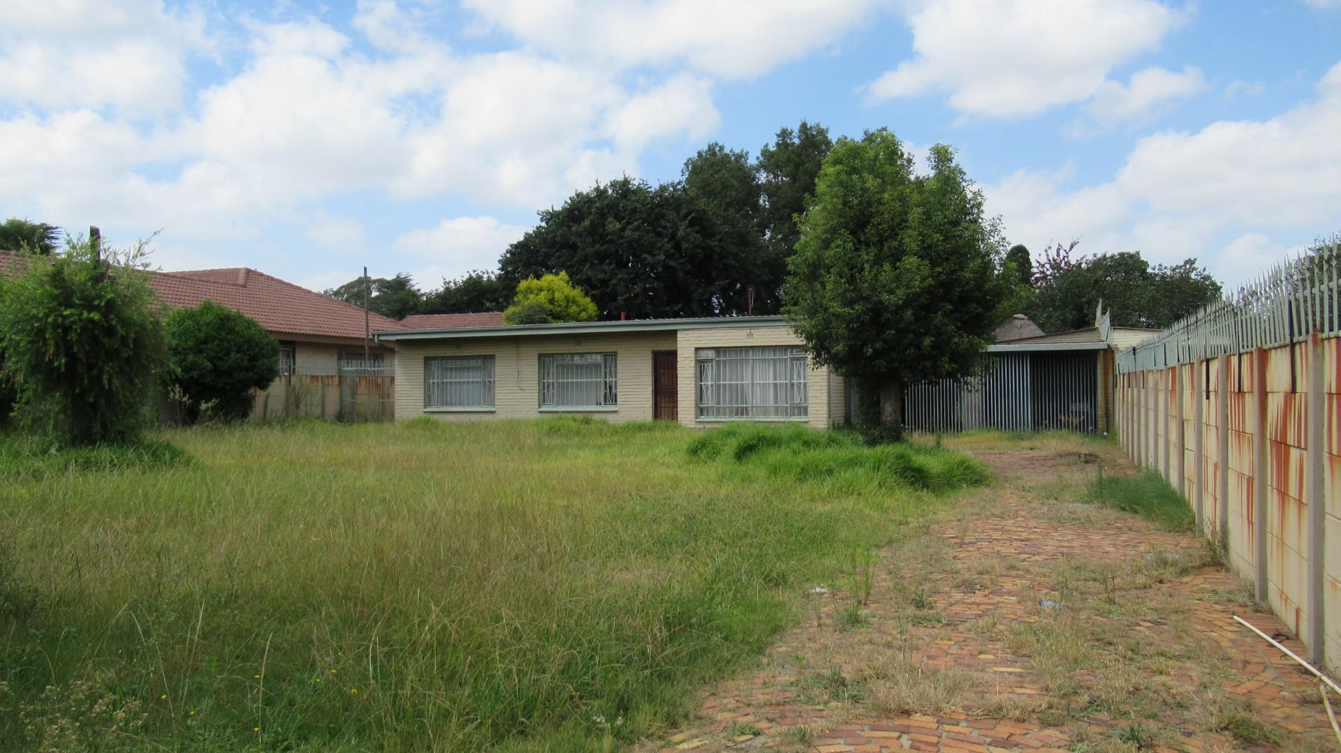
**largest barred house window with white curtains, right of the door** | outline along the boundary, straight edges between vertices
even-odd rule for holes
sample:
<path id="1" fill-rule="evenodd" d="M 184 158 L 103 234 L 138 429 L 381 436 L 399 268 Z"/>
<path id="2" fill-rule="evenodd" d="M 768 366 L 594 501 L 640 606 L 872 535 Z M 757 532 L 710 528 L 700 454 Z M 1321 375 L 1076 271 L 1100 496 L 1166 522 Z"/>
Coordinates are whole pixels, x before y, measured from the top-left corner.
<path id="1" fill-rule="evenodd" d="M 805 419 L 810 414 L 801 347 L 699 348 L 699 418 Z"/>

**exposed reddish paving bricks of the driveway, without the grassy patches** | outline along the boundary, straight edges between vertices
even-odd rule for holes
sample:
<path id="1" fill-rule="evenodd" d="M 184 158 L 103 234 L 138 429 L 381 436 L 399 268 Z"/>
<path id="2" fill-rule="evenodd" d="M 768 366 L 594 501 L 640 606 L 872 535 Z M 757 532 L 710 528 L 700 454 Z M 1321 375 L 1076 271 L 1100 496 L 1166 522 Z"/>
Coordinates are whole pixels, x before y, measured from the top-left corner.
<path id="1" fill-rule="evenodd" d="M 1130 466 L 1116 457 L 1116 450 L 1100 448 L 1094 452 L 1108 453 L 1105 473 L 1132 473 Z M 1045 678 L 1034 674 L 1030 657 L 1016 654 L 1016 643 L 1010 639 L 1018 626 L 1053 619 L 1038 602 L 1057 594 L 1054 568 L 1074 559 L 1139 561 L 1139 557 L 1156 549 L 1200 556 L 1203 544 L 1136 517 L 1075 516 L 1066 509 L 1074 505 L 1071 501 L 1030 496 L 1027 489 L 1031 482 L 1046 481 L 1047 474 L 1058 473 L 1066 462 L 1045 452 L 991 452 L 980 457 L 1006 482 L 982 492 L 987 505 L 966 508 L 983 512 L 964 513 L 964 517 L 952 517 L 931 528 L 932 536 L 947 543 L 948 561 L 955 564 L 936 565 L 940 569 L 919 580 L 919 587 L 932 603 L 925 614 L 939 614 L 944 622 L 909 624 L 900 616 L 905 614 L 900 611 L 907 608 L 907 602 L 901 599 L 907 598 L 908 568 L 913 565 L 898 549 L 885 551 L 865 610 L 872 615 L 870 624 L 861 630 L 842 630 L 843 594 L 811 602 L 807 608 L 817 616 L 802 619 L 795 628 L 780 635 L 756 671 L 708 689 L 700 715 L 661 744 L 668 749 L 676 745 L 693 745 L 697 750 L 725 750 L 736 745 L 768 749 L 794 740 L 797 725 L 810 725 L 822 730 L 811 749 L 825 753 L 876 753 L 905 748 L 999 753 L 1063 748 L 1078 729 L 1050 729 L 1037 717 L 1023 721 L 979 718 L 970 711 L 1004 698 L 1038 703 L 1039 707 L 1066 709 L 1075 703 L 1074 697 L 1050 697 Z M 966 565 L 988 560 L 1008 561 L 1011 567 L 994 576 L 991 583 L 971 583 L 959 575 L 967 569 Z M 1203 567 L 1181 580 L 1157 586 L 1159 596 L 1175 595 L 1183 600 L 1185 610 L 1179 612 L 1177 620 L 1165 620 L 1156 614 L 1141 614 L 1133 622 L 1102 614 L 1093 619 L 1114 628 L 1126 626 L 1143 644 L 1172 657 L 1188 655 L 1189 650 L 1218 651 L 1218 661 L 1232 673 L 1231 679 L 1223 682 L 1226 693 L 1244 699 L 1262 724 L 1285 732 L 1287 748 L 1326 749 L 1332 745 L 1330 725 L 1322 706 L 1316 702 L 1316 683 L 1234 622 L 1232 615 L 1238 612 L 1267 634 L 1285 632 L 1273 615 L 1251 612 L 1226 602 L 1223 594 L 1236 586 L 1236 576 Z M 1118 603 L 1140 603 L 1143 598 L 1140 592 L 1121 594 Z M 865 654 L 878 661 L 878 657 L 893 655 L 890 650 L 905 646 L 905 640 L 913 646 L 923 671 L 940 667 L 979 679 L 961 706 L 944 709 L 936 715 L 881 717 L 861 703 L 827 703 L 825 693 L 815 690 L 814 679 L 826 677 L 834 666 L 841 666 L 843 677 L 864 679 L 874 687 L 881 677 L 888 677 L 884 667 L 864 667 L 860 659 L 854 665 L 854 657 Z M 1302 651 L 1297 640 L 1285 639 L 1285 643 L 1297 653 Z M 843 650 L 842 658 L 834 659 L 830 651 L 838 647 Z M 798 657 L 803 661 L 798 662 Z M 1214 675 L 1200 671 L 1192 661 L 1180 661 L 1167 674 L 1149 679 L 1169 695 L 1204 693 L 1199 683 L 1215 682 Z M 1114 715 L 1092 714 L 1080 726 L 1088 726 L 1086 734 L 1110 738 L 1114 725 L 1128 724 L 1124 714 Z M 1202 718 L 1168 703 L 1160 709 L 1159 718 L 1143 724 L 1151 729 L 1179 730 L 1179 745 L 1185 750 L 1200 753 L 1239 745 L 1224 733 L 1198 729 Z M 738 724 L 751 724 L 760 734 L 738 742 L 731 734 Z"/>

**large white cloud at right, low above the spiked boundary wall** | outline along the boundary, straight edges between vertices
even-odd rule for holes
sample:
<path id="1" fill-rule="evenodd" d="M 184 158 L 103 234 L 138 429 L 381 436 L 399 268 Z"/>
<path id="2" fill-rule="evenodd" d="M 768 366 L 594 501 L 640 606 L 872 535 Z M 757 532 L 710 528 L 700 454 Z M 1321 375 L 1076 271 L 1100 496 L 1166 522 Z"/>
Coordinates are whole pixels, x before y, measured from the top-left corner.
<path id="1" fill-rule="evenodd" d="M 988 209 L 1012 241 L 1035 251 L 1081 238 L 1086 253 L 1198 256 L 1226 281 L 1242 281 L 1301 238 L 1341 226 L 1341 63 L 1317 91 L 1266 121 L 1145 137 L 1098 185 L 1066 190 L 1070 170 L 1012 173 L 986 186 Z"/>

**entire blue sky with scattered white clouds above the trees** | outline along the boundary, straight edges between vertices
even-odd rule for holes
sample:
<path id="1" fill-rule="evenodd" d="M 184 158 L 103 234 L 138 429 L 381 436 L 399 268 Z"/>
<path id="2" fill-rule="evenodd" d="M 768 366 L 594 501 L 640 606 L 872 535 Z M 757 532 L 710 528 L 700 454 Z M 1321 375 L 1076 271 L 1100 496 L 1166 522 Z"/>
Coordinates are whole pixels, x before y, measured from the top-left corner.
<path id="1" fill-rule="evenodd" d="M 575 190 L 802 119 L 951 145 L 1035 255 L 1236 285 L 1341 232 L 1341 0 L 0 5 L 0 216 L 162 269 L 432 289 Z"/>

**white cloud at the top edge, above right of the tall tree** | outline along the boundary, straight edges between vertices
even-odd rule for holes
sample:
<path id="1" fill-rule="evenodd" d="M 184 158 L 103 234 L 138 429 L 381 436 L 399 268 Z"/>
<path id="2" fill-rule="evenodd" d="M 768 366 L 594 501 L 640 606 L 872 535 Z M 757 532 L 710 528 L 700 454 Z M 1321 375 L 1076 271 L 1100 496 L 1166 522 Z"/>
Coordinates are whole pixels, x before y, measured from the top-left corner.
<path id="1" fill-rule="evenodd" d="M 868 102 L 929 91 L 974 115 L 1030 115 L 1094 96 L 1120 63 L 1156 47 L 1180 13 L 1153 0 L 947 0 L 913 5 L 916 56 Z"/>

